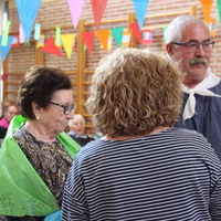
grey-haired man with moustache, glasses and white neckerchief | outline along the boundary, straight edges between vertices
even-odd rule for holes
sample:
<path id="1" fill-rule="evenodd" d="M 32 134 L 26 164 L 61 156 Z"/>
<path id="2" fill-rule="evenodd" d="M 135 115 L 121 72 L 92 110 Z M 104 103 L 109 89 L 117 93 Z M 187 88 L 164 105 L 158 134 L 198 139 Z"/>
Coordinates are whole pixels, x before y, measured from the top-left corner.
<path id="1" fill-rule="evenodd" d="M 221 81 L 210 67 L 214 41 L 199 18 L 182 14 L 168 25 L 166 50 L 185 75 L 177 127 L 203 134 L 221 159 Z"/>

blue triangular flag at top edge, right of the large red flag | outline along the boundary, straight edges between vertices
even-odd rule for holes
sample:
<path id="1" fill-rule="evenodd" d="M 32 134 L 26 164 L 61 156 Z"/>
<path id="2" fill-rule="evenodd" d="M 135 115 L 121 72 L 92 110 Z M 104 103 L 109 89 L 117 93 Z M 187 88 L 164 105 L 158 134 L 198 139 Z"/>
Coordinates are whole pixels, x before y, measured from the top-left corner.
<path id="1" fill-rule="evenodd" d="M 135 7 L 135 13 L 137 15 L 137 21 L 139 24 L 139 30 L 141 30 L 145 22 L 145 15 L 147 12 L 149 0 L 133 0 L 133 3 Z"/>

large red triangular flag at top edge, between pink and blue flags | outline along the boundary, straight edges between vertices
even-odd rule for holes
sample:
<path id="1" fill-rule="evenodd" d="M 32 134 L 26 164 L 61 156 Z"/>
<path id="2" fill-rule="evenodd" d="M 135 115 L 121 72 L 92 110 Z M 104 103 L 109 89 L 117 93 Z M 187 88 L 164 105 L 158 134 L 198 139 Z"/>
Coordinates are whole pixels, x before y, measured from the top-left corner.
<path id="1" fill-rule="evenodd" d="M 98 29 L 107 0 L 91 0 L 92 10 L 94 14 L 95 25 Z"/>

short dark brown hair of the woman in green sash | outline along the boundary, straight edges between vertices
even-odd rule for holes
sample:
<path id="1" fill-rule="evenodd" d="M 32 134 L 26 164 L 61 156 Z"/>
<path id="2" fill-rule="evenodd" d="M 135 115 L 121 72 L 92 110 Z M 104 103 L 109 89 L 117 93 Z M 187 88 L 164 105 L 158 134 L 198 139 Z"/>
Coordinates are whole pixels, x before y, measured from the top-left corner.
<path id="1" fill-rule="evenodd" d="M 54 92 L 59 90 L 71 90 L 70 77 L 57 67 L 35 65 L 25 73 L 18 95 L 18 104 L 21 115 L 34 119 L 32 103 L 46 107 Z"/>

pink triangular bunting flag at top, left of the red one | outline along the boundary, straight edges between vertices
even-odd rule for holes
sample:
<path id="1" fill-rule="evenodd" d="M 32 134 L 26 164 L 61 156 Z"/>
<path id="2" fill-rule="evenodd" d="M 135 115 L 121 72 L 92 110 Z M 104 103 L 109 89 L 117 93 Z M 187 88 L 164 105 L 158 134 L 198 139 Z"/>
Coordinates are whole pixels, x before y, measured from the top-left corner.
<path id="1" fill-rule="evenodd" d="M 84 0 L 67 0 L 69 8 L 72 17 L 73 27 L 76 29 L 80 15 L 82 13 L 82 8 L 84 6 Z"/>

